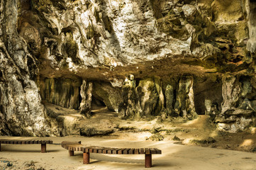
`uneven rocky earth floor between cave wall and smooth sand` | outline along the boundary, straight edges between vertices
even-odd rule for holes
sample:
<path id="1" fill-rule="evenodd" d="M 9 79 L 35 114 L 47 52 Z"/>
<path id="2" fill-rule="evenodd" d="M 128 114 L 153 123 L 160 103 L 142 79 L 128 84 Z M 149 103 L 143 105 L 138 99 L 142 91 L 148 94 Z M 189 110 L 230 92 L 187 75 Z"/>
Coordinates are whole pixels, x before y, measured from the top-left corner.
<path id="1" fill-rule="evenodd" d="M 194 120 L 184 118 L 140 118 L 123 120 L 118 113 L 106 107 L 94 106 L 91 118 L 79 115 L 77 111 L 45 104 L 66 118 L 74 117 L 66 126 L 74 125 L 71 135 L 101 137 L 111 140 L 163 141 L 179 145 L 197 145 L 216 149 L 230 149 L 256 153 L 256 129 L 244 132 L 228 133 L 216 129 L 208 115 L 199 115 Z M 68 113 L 68 114 L 67 114 Z"/>

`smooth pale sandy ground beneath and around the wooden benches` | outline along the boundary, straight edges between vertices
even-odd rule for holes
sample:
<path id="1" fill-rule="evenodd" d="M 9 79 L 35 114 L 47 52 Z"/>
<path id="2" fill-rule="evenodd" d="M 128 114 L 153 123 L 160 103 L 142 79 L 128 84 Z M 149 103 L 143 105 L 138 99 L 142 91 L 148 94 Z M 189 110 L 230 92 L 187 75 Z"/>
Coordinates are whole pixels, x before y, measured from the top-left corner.
<path id="1" fill-rule="evenodd" d="M 38 139 L 35 137 L 0 137 L 1 139 Z M 40 145 L 1 145 L 0 169 L 145 169 L 144 155 L 91 154 L 91 164 L 82 164 L 82 152 L 69 157 L 60 146 L 63 140 L 81 140 L 84 145 L 104 147 L 157 147 L 162 154 L 152 155 L 152 169 L 256 169 L 256 154 L 209 147 L 176 145 L 172 141 L 111 140 L 102 137 L 43 137 L 53 140 L 47 153 Z M 7 164 L 13 164 L 7 166 Z"/>

